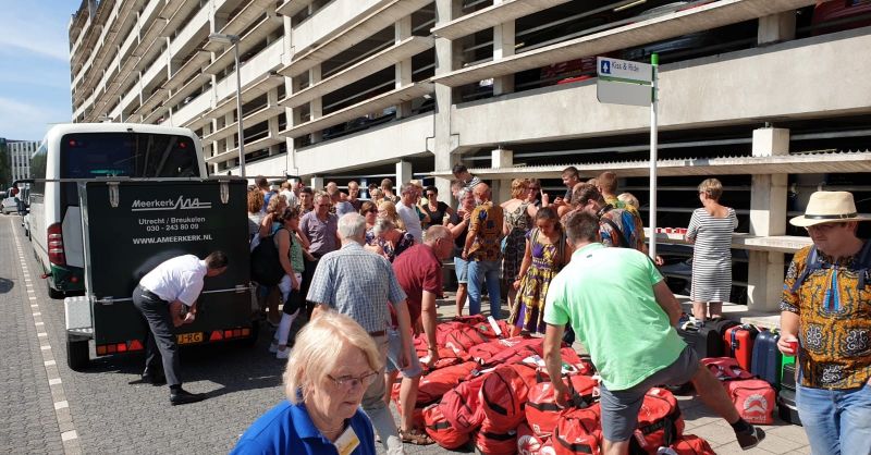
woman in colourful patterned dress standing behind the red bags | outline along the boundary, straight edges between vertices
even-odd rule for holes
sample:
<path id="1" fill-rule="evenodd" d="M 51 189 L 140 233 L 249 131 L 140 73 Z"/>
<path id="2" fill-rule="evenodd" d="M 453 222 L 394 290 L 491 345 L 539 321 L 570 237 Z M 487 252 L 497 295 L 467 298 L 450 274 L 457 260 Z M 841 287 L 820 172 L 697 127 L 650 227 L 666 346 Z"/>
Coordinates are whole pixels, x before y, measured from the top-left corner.
<path id="1" fill-rule="evenodd" d="M 511 335 L 544 333 L 544 297 L 553 276 L 572 258 L 572 246 L 560 224 L 560 217 L 545 207 L 536 214 L 536 228 L 526 234 L 526 253 L 520 273 L 512 287 L 517 298 L 511 308 Z"/>

